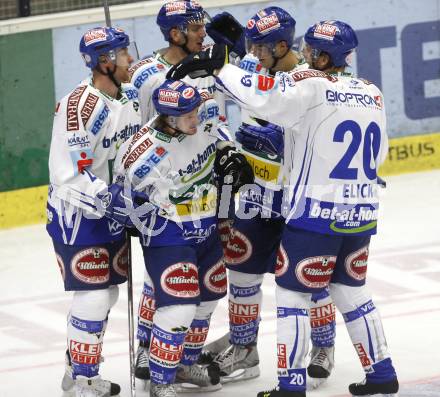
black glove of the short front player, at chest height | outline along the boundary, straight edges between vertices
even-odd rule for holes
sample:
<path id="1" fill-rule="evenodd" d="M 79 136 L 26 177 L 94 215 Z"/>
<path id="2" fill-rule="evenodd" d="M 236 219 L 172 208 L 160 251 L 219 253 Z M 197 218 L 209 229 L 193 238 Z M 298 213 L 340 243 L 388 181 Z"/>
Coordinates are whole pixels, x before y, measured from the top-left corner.
<path id="1" fill-rule="evenodd" d="M 243 185 L 254 183 L 254 172 L 246 157 L 230 145 L 217 149 L 214 172 L 220 185 L 232 186 L 232 193 L 237 193 Z"/>

